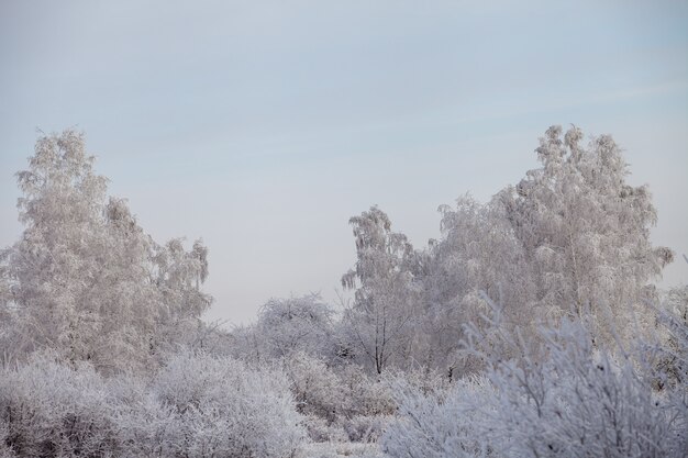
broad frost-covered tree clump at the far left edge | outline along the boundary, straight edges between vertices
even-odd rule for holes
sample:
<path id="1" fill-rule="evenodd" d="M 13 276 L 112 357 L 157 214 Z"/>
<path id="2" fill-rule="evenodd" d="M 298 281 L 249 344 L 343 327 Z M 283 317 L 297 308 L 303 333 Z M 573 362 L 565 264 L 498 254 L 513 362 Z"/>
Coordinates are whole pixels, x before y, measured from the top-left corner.
<path id="1" fill-rule="evenodd" d="M 0 256 L 3 334 L 15 356 L 52 348 L 101 370 L 137 369 L 208 306 L 207 253 L 157 245 L 124 200 L 107 199 L 93 161 L 84 136 L 65 131 L 42 136 L 16 175 L 25 228 Z"/>

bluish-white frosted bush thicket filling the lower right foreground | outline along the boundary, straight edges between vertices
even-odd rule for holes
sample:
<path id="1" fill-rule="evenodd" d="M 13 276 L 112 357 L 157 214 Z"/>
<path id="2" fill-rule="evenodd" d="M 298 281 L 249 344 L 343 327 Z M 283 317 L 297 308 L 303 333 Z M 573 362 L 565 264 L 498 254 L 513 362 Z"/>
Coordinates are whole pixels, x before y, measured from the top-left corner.
<path id="1" fill-rule="evenodd" d="M 431 395 L 398 387 L 401 418 L 385 449 L 398 457 L 685 456 L 688 386 L 654 391 L 661 375 L 652 354 L 596 348 L 580 322 L 541 334 L 543 359 L 518 333 L 502 333 L 521 350 L 509 360 L 480 348 L 484 336 L 474 334 L 473 349 L 488 364 L 487 387 L 460 382 Z M 685 348 L 687 340 L 678 340 Z"/>

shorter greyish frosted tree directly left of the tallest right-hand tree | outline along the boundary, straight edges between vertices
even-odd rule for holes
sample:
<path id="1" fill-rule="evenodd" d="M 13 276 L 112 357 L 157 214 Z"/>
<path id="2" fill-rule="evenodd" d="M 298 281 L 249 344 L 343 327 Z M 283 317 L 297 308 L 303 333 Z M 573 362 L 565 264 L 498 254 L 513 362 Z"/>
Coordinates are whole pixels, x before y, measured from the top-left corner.
<path id="1" fill-rule="evenodd" d="M 430 366 L 453 377 L 471 370 L 457 353 L 465 323 L 489 310 L 484 297 L 499 298 L 512 325 L 532 326 L 546 316 L 533 304 L 529 265 L 499 204 L 471 197 L 442 205 L 442 238 L 423 255 L 423 295 L 431 339 Z M 531 305 L 523 313 L 523 304 Z M 506 317 L 507 319 L 507 317 Z"/>

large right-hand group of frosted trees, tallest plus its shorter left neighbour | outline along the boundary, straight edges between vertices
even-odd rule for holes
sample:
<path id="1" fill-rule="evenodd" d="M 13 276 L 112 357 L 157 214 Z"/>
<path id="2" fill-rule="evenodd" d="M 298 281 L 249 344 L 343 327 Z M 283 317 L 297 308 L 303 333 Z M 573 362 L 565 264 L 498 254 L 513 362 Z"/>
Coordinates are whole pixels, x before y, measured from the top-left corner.
<path id="1" fill-rule="evenodd" d="M 628 165 L 608 135 L 584 146 L 578 129 L 563 135 L 554 126 L 536 152 L 542 167 L 488 203 L 441 206 L 442 238 L 423 277 L 437 326 L 456 342 L 462 323 L 489 309 L 485 293 L 504 323 L 530 334 L 564 315 L 593 316 L 598 339 L 611 340 L 612 327 L 624 338 L 637 324 L 648 332 L 650 282 L 673 254 L 650 241 L 656 212 L 647 187 L 626 183 Z"/>

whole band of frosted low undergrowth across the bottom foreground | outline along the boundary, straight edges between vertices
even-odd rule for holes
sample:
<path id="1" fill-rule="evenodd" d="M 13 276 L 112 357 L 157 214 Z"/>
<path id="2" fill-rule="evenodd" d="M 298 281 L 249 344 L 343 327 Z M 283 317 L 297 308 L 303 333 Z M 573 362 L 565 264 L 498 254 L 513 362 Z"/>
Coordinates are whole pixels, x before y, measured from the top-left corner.
<path id="1" fill-rule="evenodd" d="M 544 356 L 502 333 L 520 351 L 504 360 L 476 331 L 468 342 L 486 366 L 480 376 L 358 379 L 368 410 L 354 409 L 342 383 L 358 372 L 335 375 L 303 354 L 287 373 L 184 350 L 147 380 L 37 354 L 0 373 L 0 456 L 684 456 L 688 334 L 679 317 L 662 321 L 673 345 L 613 353 L 595 347 L 579 322 L 542 329 Z M 390 395 L 395 415 L 365 390 Z"/>

